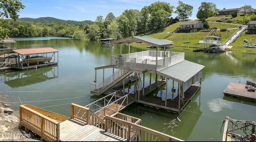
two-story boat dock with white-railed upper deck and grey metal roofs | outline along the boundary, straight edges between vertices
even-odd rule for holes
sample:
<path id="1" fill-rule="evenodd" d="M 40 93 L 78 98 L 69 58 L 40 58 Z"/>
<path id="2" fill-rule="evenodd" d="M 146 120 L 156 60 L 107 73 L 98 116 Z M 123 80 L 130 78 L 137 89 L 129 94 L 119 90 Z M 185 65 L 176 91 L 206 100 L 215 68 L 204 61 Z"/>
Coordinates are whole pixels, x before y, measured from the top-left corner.
<path id="1" fill-rule="evenodd" d="M 134 42 L 153 45 L 156 47 L 156 51 L 148 50 L 130 53 L 130 43 Z M 132 93 L 134 95 L 131 96 L 136 99 L 137 103 L 155 108 L 164 108 L 180 114 L 182 109 L 186 107 L 186 104 L 199 91 L 200 85 L 194 85 L 194 83 L 197 81 L 201 83 L 200 80 L 204 66 L 186 61 L 184 59 L 184 53 L 182 52 L 166 51 L 166 47 L 172 46 L 172 41 L 153 37 L 133 36 L 111 41 L 111 47 L 113 44 L 121 44 L 120 55 L 112 55 L 111 48 L 110 65 L 105 66 L 106 68 L 112 67 L 113 74 L 104 79 L 104 67 L 95 68 L 95 71 L 97 69 L 103 69 L 103 81 L 99 84 L 96 83 L 97 76 L 95 75 L 95 83 L 91 83 L 92 94 L 103 94 L 116 83 L 124 81 L 126 77 L 129 78 L 130 75 L 133 74 L 132 76 L 137 78 L 135 79 L 136 83 L 134 85 L 134 92 Z M 122 44 L 129 44 L 128 54 L 122 54 Z M 163 48 L 164 51 L 158 51 L 158 47 Z M 114 72 L 114 68 L 118 68 L 118 70 Z M 145 86 L 145 73 L 150 74 L 148 87 Z M 155 74 L 155 79 L 153 80 L 152 74 Z M 169 82 L 172 83 L 172 85 L 169 86 Z M 174 91 L 174 84 L 178 88 L 176 92 Z M 150 93 L 152 94 L 153 91 L 157 91 L 161 86 L 165 87 L 165 95 L 160 95 L 160 97 L 157 97 L 158 101 L 156 101 L 151 98 Z M 190 90 L 190 92 L 187 90 Z M 122 91 L 124 94 L 130 93 L 125 92 L 124 86 Z M 170 95 L 172 97 L 170 97 Z"/>

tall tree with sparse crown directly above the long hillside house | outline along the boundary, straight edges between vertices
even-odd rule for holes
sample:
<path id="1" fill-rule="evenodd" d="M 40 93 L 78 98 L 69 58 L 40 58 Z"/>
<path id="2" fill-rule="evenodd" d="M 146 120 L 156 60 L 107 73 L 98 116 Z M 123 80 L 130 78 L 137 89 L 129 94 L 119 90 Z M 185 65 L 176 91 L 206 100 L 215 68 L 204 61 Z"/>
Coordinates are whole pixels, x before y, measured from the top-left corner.
<path id="1" fill-rule="evenodd" d="M 193 6 L 188 4 L 184 4 L 179 0 L 179 5 L 176 7 L 175 13 L 178 14 L 178 19 L 187 20 L 190 16 L 192 16 Z"/>

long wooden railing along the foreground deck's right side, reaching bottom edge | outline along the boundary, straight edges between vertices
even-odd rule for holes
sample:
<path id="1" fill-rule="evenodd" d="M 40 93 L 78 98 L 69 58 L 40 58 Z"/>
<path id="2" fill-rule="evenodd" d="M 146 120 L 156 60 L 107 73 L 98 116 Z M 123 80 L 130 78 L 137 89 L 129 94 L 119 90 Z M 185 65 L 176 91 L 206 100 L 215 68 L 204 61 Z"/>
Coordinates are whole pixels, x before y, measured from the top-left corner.
<path id="1" fill-rule="evenodd" d="M 183 141 L 162 132 L 108 115 L 105 116 L 105 131 L 128 141 Z"/>

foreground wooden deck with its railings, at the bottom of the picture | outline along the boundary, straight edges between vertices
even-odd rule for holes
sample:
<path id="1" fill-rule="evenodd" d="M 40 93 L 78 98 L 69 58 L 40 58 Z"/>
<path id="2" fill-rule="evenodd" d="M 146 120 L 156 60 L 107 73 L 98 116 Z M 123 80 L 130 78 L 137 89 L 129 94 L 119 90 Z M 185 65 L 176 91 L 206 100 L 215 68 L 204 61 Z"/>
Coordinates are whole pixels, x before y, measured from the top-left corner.
<path id="1" fill-rule="evenodd" d="M 142 120 L 116 112 L 99 118 L 90 108 L 71 104 L 70 117 L 20 105 L 20 124 L 46 141 L 183 141 L 141 126 Z"/>

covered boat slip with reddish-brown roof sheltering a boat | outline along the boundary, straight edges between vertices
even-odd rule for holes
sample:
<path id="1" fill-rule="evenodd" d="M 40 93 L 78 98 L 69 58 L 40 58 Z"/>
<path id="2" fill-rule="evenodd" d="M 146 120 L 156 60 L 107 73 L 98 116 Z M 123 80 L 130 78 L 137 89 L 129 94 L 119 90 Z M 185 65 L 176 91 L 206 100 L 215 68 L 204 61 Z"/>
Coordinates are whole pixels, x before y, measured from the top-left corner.
<path id="1" fill-rule="evenodd" d="M 10 68 L 29 69 L 58 64 L 58 50 L 51 47 L 12 49 L 4 55 L 7 55 L 6 62 L 12 62 Z M 10 55 L 16 55 L 17 58 L 10 61 Z"/>

